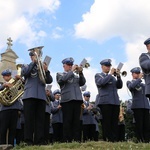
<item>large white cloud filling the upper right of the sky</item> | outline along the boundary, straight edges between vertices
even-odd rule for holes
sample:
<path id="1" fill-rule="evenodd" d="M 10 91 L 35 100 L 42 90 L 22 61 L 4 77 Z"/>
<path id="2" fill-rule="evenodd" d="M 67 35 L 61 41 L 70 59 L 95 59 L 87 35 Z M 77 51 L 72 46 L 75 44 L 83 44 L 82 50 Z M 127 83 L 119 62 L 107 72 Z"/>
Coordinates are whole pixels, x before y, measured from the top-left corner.
<path id="1" fill-rule="evenodd" d="M 149 35 L 149 0 L 95 0 L 90 11 L 75 25 L 79 38 L 98 42 L 120 36 L 131 41 Z"/>

